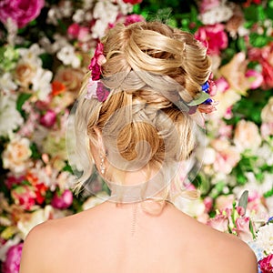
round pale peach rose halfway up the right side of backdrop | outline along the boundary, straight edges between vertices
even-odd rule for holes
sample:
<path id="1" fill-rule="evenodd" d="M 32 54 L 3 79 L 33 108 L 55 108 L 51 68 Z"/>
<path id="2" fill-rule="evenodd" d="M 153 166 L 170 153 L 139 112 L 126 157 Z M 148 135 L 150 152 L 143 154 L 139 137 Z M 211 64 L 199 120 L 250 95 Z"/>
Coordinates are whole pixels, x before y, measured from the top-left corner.
<path id="1" fill-rule="evenodd" d="M 248 148 L 257 149 L 261 144 L 258 126 L 251 121 L 240 120 L 235 128 L 233 140 L 240 151 Z"/>

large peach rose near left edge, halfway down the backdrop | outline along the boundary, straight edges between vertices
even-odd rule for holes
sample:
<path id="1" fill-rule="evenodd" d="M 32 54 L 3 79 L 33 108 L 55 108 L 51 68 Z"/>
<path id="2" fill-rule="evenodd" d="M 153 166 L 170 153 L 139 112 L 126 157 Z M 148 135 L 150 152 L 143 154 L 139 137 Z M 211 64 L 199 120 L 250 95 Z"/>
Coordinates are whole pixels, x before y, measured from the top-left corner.
<path id="1" fill-rule="evenodd" d="M 15 138 L 5 148 L 3 153 L 3 167 L 15 173 L 20 173 L 29 165 L 28 159 L 32 152 L 27 138 Z"/>

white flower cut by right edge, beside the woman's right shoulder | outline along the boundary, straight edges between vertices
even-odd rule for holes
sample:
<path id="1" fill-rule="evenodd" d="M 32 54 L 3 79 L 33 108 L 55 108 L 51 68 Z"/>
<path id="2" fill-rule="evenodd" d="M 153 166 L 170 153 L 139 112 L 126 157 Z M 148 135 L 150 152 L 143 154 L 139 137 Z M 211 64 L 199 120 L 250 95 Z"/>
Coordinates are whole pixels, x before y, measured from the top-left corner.
<path id="1" fill-rule="evenodd" d="M 256 238 L 257 245 L 267 254 L 273 253 L 273 224 L 259 227 Z"/>

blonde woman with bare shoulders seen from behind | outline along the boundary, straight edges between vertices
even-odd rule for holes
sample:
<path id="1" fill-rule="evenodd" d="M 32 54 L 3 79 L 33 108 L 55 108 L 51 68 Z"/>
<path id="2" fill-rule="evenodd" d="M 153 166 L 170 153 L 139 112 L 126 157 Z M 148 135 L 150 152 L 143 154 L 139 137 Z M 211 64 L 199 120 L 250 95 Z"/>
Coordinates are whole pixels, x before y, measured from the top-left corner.
<path id="1" fill-rule="evenodd" d="M 214 110 L 206 48 L 161 23 L 116 25 L 89 68 L 76 109 L 76 188 L 94 162 L 111 197 L 33 228 L 20 272 L 257 272 L 244 242 L 172 204 L 195 120 Z"/>

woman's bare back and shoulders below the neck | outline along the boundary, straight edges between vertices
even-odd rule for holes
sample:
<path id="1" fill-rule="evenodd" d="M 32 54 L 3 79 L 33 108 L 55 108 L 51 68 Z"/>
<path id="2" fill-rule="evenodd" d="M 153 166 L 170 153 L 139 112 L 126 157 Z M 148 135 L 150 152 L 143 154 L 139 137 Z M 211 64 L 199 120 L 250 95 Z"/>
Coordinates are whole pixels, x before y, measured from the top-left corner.
<path id="1" fill-rule="evenodd" d="M 96 165 L 105 152 L 99 132 Z M 106 163 L 108 164 L 108 163 Z M 141 173 L 131 173 L 135 183 Z M 106 201 L 69 217 L 34 227 L 23 248 L 20 273 L 204 272 L 255 273 L 257 260 L 235 236 L 207 227 L 171 203 L 155 215 L 151 202 Z"/>

